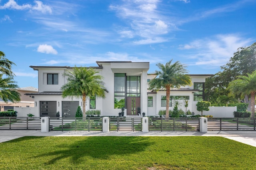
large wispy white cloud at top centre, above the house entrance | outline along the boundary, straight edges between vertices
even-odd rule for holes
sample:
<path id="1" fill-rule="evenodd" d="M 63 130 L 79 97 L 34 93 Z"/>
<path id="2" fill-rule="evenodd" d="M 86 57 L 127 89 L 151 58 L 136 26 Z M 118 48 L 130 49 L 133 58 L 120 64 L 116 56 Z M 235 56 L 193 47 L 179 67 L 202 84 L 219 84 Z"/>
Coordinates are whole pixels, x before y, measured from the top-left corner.
<path id="1" fill-rule="evenodd" d="M 110 9 L 116 12 L 119 18 L 128 23 L 128 27 L 118 31 L 121 37 L 136 38 L 140 37 L 144 40 L 142 44 L 146 42 L 161 43 L 166 39 L 159 38 L 159 36 L 167 34 L 169 30 L 175 28 L 175 25 L 168 23 L 166 17 L 160 15 L 161 11 L 157 6 L 160 0 L 135 0 L 135 1 L 123 1 L 121 5 L 110 5 Z M 176 28 L 175 28 L 176 29 Z M 145 41 L 145 40 L 153 41 Z M 154 41 L 158 39 L 158 41 Z M 162 41 L 159 41 L 159 40 Z M 138 41 L 133 41 L 135 44 L 141 44 Z"/>

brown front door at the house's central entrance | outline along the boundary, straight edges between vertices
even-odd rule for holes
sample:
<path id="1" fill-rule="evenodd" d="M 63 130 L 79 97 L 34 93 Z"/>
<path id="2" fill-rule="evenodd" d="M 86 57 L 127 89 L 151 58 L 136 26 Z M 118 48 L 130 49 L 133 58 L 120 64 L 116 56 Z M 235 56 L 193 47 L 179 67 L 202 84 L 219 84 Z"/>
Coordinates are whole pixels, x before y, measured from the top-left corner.
<path id="1" fill-rule="evenodd" d="M 138 115 L 137 108 L 140 107 L 140 97 L 127 97 L 127 115 Z"/>

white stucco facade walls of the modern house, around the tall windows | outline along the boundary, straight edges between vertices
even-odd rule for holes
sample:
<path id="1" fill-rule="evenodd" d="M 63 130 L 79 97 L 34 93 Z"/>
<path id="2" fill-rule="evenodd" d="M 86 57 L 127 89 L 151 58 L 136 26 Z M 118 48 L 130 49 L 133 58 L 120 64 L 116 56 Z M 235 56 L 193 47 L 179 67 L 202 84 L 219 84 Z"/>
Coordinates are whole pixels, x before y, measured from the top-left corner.
<path id="1" fill-rule="evenodd" d="M 116 109 L 114 107 L 115 102 L 114 98 L 116 97 L 116 89 L 114 89 L 115 84 L 115 74 L 124 74 L 125 80 L 127 77 L 136 78 L 139 77 L 139 81 L 137 83 L 137 96 L 136 105 L 141 109 L 142 113 L 146 113 L 146 116 L 157 116 L 158 111 L 161 109 L 165 109 L 165 107 L 161 106 L 161 96 L 166 96 L 165 91 L 157 91 L 150 92 L 148 90 L 148 80 L 155 77 L 154 74 L 148 74 L 149 63 L 148 62 L 131 62 L 131 61 L 97 61 L 98 66 L 93 68 L 98 71 L 98 74 L 102 75 L 104 78 L 104 86 L 106 87 L 105 96 L 106 98 L 96 98 L 96 110 L 100 110 L 102 116 L 118 116 L 118 113 L 121 112 L 121 109 Z M 38 71 L 38 93 L 27 94 L 30 96 L 34 96 L 35 102 L 35 115 L 36 116 L 50 116 L 54 117 L 53 112 L 60 112 L 60 117 L 66 116 L 66 111 L 72 110 L 72 115 L 75 113 L 75 107 L 82 107 L 82 99 L 81 98 L 62 98 L 60 88 L 67 82 L 66 78 L 63 76 L 63 73 L 66 70 L 72 70 L 72 67 L 69 66 L 30 66 L 34 70 Z M 58 81 L 56 79 L 52 79 L 49 83 L 49 77 L 58 77 Z M 193 111 L 195 114 L 199 114 L 196 111 L 196 103 L 194 101 L 194 83 L 204 83 L 205 79 L 211 75 L 204 74 L 192 74 L 190 75 L 192 78 L 192 85 L 181 87 L 180 89 L 171 90 L 171 96 L 189 96 L 189 104 L 188 108 L 190 111 Z M 125 84 L 128 81 L 124 82 Z M 128 85 L 127 85 L 128 86 Z M 124 86 L 126 88 L 126 85 Z M 139 90 L 138 90 L 139 89 Z M 130 104 L 128 102 L 128 96 L 126 94 L 127 89 L 125 89 L 125 110 L 124 116 L 138 116 L 137 114 L 130 114 L 130 107 L 135 108 L 134 104 Z M 148 107 L 148 96 L 152 97 L 152 105 Z M 133 97 L 132 101 L 133 101 Z M 134 97 L 135 98 L 135 97 Z M 135 101 L 135 100 L 134 100 Z M 183 109 L 185 111 L 184 100 L 180 100 L 181 106 L 179 109 Z M 170 109 L 173 109 L 173 105 L 170 106 Z M 90 109 L 90 99 L 86 99 L 86 110 Z M 129 113 L 128 113 L 128 112 Z M 139 115 L 140 116 L 140 115 Z"/>

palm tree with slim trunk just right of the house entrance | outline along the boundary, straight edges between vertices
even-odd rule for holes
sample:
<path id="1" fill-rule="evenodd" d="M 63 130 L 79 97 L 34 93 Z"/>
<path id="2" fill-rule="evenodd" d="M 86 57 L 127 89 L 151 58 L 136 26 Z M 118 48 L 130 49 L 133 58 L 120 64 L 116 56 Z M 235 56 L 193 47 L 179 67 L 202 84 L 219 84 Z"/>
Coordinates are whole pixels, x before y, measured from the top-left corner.
<path id="1" fill-rule="evenodd" d="M 159 71 L 156 70 L 156 78 L 153 78 L 149 82 L 150 90 L 166 90 L 166 111 L 165 117 L 169 117 L 169 102 L 170 102 L 170 90 L 171 88 L 179 88 L 180 86 L 186 86 L 191 84 L 191 78 L 186 70 L 186 65 L 176 61 L 172 64 L 172 60 L 165 65 L 156 64 Z"/>

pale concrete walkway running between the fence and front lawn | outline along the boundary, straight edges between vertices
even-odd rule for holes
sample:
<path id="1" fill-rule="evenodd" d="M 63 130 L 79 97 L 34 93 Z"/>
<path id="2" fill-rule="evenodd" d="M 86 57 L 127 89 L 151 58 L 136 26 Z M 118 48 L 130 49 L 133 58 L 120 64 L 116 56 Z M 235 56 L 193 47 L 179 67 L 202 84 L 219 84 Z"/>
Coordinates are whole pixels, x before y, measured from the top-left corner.
<path id="1" fill-rule="evenodd" d="M 24 136 L 220 136 L 256 147 L 256 131 L 208 131 L 200 133 L 197 131 L 165 131 L 148 132 L 87 132 L 87 131 L 50 131 L 41 132 L 37 130 L 1 130 L 0 143 L 10 141 Z"/>

